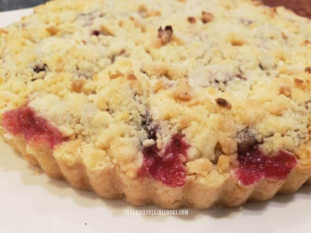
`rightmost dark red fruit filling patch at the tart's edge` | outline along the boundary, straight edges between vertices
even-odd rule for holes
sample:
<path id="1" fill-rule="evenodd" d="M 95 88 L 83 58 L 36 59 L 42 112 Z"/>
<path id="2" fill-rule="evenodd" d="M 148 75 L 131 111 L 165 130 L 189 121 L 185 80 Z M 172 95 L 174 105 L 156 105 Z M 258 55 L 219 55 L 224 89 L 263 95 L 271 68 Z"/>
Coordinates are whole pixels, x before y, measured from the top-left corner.
<path id="1" fill-rule="evenodd" d="M 239 167 L 235 174 L 243 185 L 258 182 L 262 177 L 282 180 L 297 164 L 293 154 L 280 150 L 268 156 L 258 145 L 238 153 Z"/>

